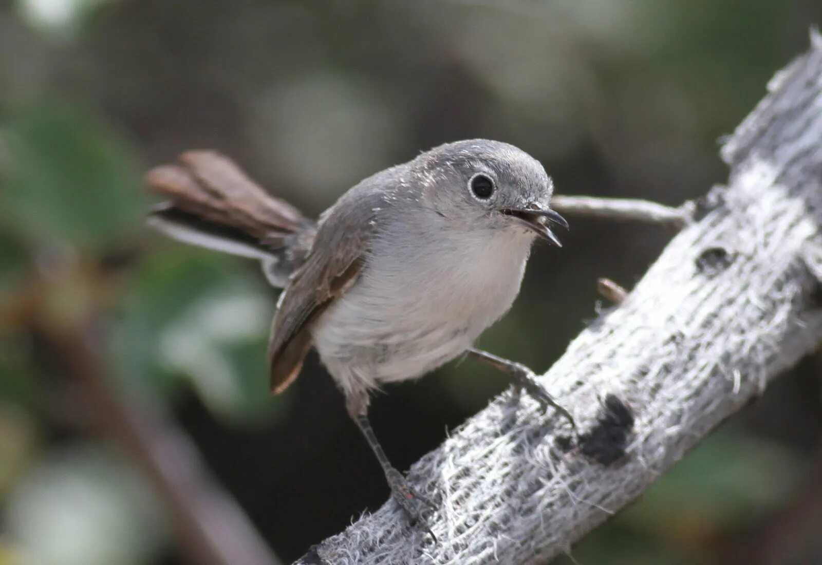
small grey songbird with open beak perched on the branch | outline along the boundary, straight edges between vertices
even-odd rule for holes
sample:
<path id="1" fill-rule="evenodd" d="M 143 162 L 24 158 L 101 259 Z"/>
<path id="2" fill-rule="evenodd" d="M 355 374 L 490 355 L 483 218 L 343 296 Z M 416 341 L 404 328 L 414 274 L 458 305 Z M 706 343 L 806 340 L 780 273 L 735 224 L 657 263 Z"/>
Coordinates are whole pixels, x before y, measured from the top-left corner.
<path id="1" fill-rule="evenodd" d="M 169 198 L 151 225 L 261 260 L 270 283 L 284 288 L 269 342 L 272 390 L 288 387 L 315 347 L 412 521 L 425 526 L 428 503 L 376 440 L 367 418 L 373 389 L 468 354 L 573 425 L 524 365 L 473 348 L 520 292 L 534 238 L 559 246 L 552 224 L 568 227 L 550 208 L 550 177 L 521 149 L 491 140 L 441 145 L 353 186 L 317 223 L 214 152 L 182 154 L 146 181 Z"/>

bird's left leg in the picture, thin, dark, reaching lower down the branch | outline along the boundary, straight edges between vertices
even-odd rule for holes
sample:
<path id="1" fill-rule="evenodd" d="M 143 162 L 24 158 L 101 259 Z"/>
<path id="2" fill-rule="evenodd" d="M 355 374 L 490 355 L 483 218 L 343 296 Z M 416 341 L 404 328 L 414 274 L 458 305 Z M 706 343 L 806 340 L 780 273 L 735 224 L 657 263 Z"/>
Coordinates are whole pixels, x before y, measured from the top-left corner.
<path id="1" fill-rule="evenodd" d="M 436 541 L 434 532 L 431 531 L 431 528 L 428 526 L 427 521 L 423 517 L 423 507 L 432 509 L 436 507 L 430 500 L 423 497 L 422 494 L 419 494 L 416 489 L 409 485 L 408 481 L 405 480 L 405 476 L 397 471 L 393 465 L 391 465 L 391 462 L 386 456 L 386 452 L 383 451 L 380 442 L 376 439 L 376 434 L 374 434 L 374 429 L 371 427 L 371 422 L 368 420 L 367 393 L 363 394 L 366 395 L 364 402 L 360 398 L 349 397 L 347 399 L 349 416 L 357 422 L 357 425 L 360 431 L 363 432 L 363 436 L 365 436 L 368 445 L 371 446 L 372 452 L 374 452 L 374 455 L 376 456 L 376 460 L 380 462 L 382 471 L 386 474 L 386 481 L 388 482 L 388 487 L 391 490 L 391 495 L 397 503 L 399 503 L 399 506 L 403 508 L 410 521 L 418 526 L 422 526 L 423 529 L 431 535 L 432 539 Z"/>

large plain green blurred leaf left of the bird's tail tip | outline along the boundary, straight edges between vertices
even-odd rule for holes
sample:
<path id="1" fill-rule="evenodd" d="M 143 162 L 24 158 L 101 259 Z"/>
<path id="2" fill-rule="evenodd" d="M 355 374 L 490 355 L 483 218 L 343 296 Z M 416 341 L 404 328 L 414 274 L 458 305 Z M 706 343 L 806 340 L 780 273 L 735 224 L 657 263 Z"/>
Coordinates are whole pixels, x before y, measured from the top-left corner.
<path id="1" fill-rule="evenodd" d="M 43 102 L 13 113 L 0 136 L 0 221 L 21 239 L 99 250 L 141 224 L 145 200 L 130 151 L 96 117 Z"/>

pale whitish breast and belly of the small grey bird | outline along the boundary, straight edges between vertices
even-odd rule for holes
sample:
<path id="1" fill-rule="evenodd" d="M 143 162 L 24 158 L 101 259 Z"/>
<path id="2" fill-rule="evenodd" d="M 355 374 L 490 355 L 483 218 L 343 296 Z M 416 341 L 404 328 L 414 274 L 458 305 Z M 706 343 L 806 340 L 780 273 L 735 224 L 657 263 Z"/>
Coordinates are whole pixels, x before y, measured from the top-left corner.
<path id="1" fill-rule="evenodd" d="M 374 241 L 358 282 L 315 324 L 315 347 L 346 391 L 459 356 L 510 308 L 532 241 L 517 232 L 396 235 Z"/>

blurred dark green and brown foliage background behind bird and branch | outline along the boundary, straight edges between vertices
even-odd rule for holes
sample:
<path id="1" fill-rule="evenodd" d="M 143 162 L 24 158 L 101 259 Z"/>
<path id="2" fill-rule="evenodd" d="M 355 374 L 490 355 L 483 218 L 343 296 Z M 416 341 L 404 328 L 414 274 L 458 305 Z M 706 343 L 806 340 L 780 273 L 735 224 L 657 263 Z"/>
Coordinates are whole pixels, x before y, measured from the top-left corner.
<path id="1" fill-rule="evenodd" d="M 0 0 L 0 565 L 289 563 L 388 496 L 316 356 L 267 393 L 257 265 L 145 229 L 146 168 L 219 149 L 315 215 L 488 137 L 560 193 L 679 204 L 820 22 L 818 0 Z M 576 220 L 481 345 L 546 369 L 596 279 L 630 288 L 670 237 Z M 820 370 L 555 563 L 822 563 Z M 376 397 L 376 432 L 406 469 L 505 387 L 449 365 Z"/>

